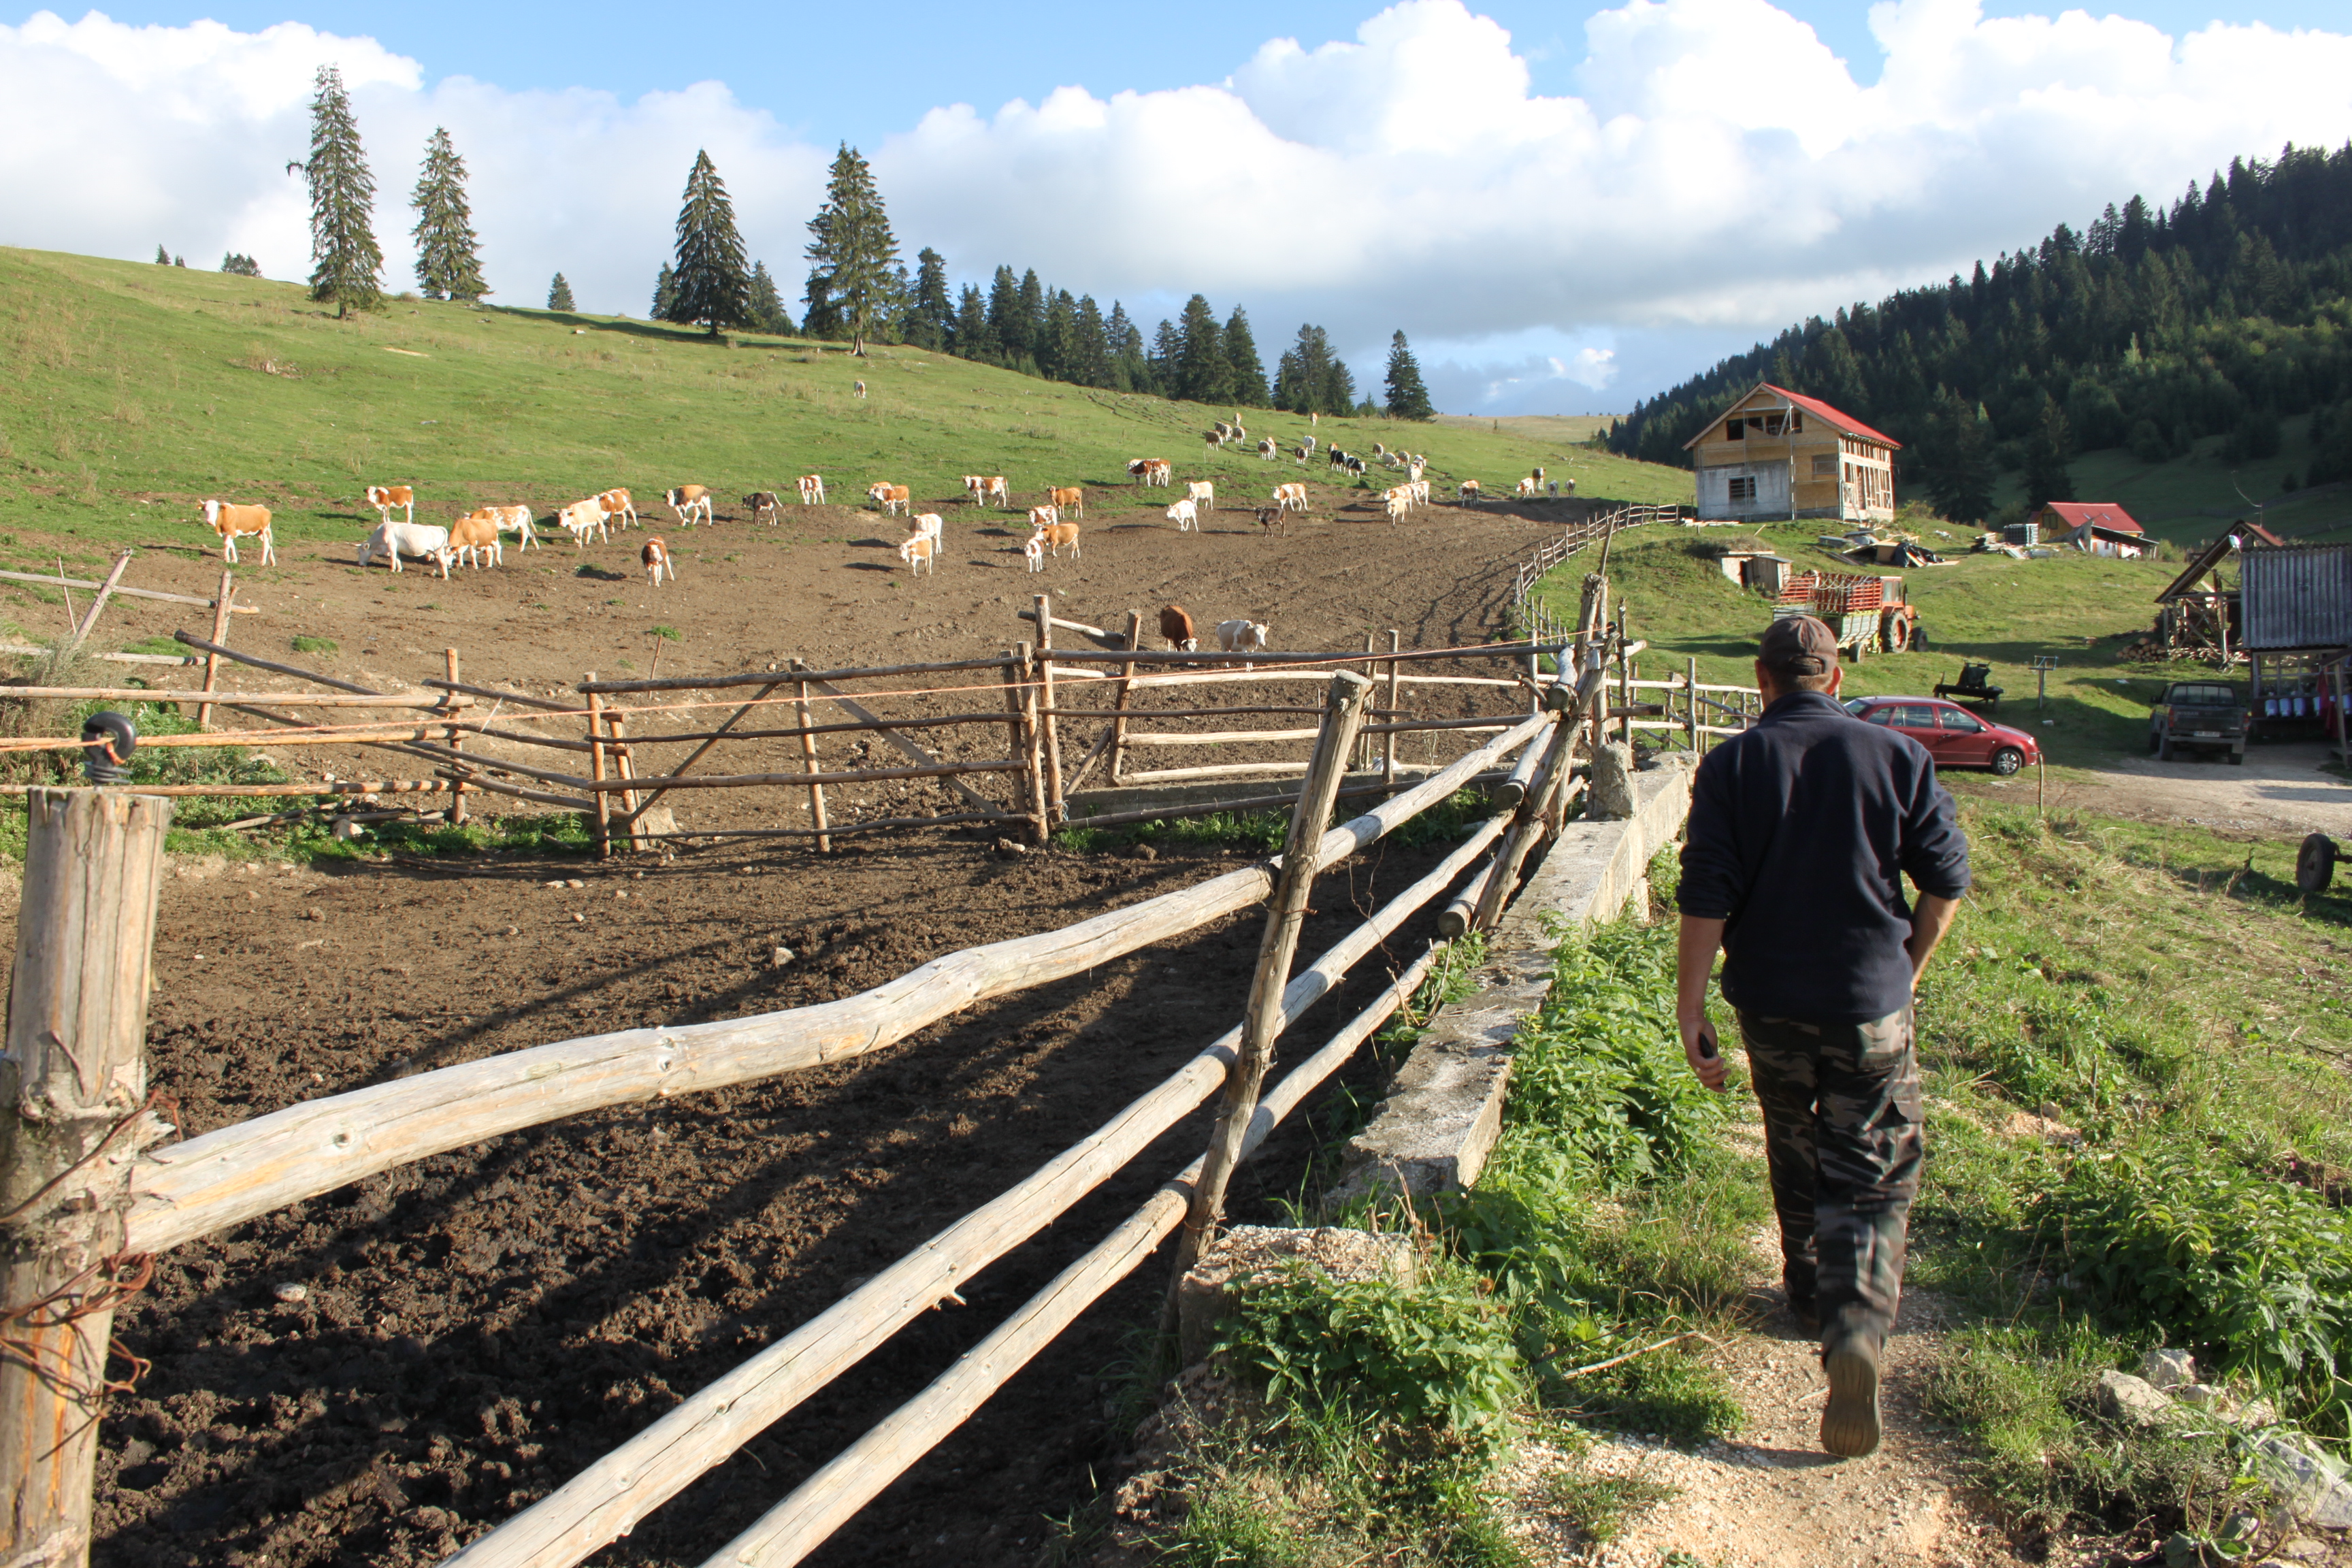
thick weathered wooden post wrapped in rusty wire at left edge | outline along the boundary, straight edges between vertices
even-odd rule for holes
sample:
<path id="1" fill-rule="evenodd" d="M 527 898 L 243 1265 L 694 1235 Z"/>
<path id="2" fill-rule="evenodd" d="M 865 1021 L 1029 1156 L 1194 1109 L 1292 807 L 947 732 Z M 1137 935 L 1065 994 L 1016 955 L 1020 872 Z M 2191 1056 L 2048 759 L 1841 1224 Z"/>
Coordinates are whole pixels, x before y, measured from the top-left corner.
<path id="1" fill-rule="evenodd" d="M 89 1561 L 89 1488 L 146 1117 L 146 999 L 172 802 L 28 797 L 16 973 L 0 1058 L 7 1352 L 0 1354 L 0 1563 Z"/>

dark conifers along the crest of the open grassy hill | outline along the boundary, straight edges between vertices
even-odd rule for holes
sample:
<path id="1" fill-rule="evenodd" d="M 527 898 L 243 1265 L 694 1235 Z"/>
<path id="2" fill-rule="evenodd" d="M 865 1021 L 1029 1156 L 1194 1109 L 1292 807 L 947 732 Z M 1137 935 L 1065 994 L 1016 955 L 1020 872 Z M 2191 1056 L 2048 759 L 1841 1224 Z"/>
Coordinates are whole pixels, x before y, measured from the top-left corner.
<path id="1" fill-rule="evenodd" d="M 334 66 L 318 73 L 310 103 L 310 158 L 299 167 L 310 181 L 310 296 L 339 315 L 381 306 L 383 252 L 372 233 L 374 176 L 360 146 L 350 96 Z M 423 169 L 409 197 L 416 209 L 416 282 L 426 299 L 475 301 L 489 294 L 480 242 L 466 200 L 466 160 L 447 129 L 426 143 Z M 873 169 L 842 143 L 826 179 L 826 202 L 809 219 L 802 284 L 804 315 L 795 324 L 767 263 L 750 259 L 736 226 L 734 200 L 708 153 L 694 155 L 677 212 L 673 259 L 654 277 L 652 317 L 722 331 L 771 331 L 849 341 L 910 343 L 983 364 L 1000 364 L 1049 381 L 1120 393 L 1155 393 L 1207 404 L 1277 407 L 1296 414 L 1378 414 L 1357 395 L 1355 374 L 1322 327 L 1303 324 L 1268 381 L 1249 315 L 1235 306 L 1221 322 L 1200 294 L 1178 320 L 1162 320 L 1150 339 L 1091 294 L 1073 296 L 1037 280 L 1035 268 L 1014 277 L 1000 266 L 988 289 L 964 284 L 950 294 L 948 263 L 931 247 L 908 275 Z M 242 266 L 230 266 L 242 263 Z M 230 256 L 223 270 L 249 268 Z M 548 284 L 548 310 L 574 310 L 562 273 Z M 1385 411 L 1430 418 L 1428 388 L 1404 334 L 1388 355 Z"/>

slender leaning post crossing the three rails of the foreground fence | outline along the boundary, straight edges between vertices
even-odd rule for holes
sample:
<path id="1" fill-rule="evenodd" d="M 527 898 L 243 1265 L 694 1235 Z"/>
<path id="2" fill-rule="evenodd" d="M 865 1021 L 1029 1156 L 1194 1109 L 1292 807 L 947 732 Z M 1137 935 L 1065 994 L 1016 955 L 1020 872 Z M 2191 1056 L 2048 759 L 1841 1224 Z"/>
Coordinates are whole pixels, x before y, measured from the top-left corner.
<path id="1" fill-rule="evenodd" d="M 1291 983 L 1291 959 L 1298 957 L 1298 929 L 1305 924 L 1308 893 L 1315 889 L 1315 872 L 1322 870 L 1317 856 L 1324 823 L 1331 818 L 1331 802 L 1338 799 L 1338 780 L 1348 771 L 1348 752 L 1355 748 L 1357 729 L 1364 726 L 1369 693 L 1371 682 L 1355 670 L 1334 672 L 1331 689 L 1324 693 L 1322 733 L 1315 738 L 1315 759 L 1308 764 L 1305 785 L 1291 809 L 1291 837 L 1282 846 L 1282 877 L 1268 900 L 1265 936 L 1258 940 L 1258 973 L 1249 980 L 1242 1046 L 1232 1070 L 1225 1072 L 1225 1103 L 1216 1112 L 1209 1157 L 1192 1187 L 1192 1213 L 1185 1215 L 1183 1234 L 1176 1239 L 1176 1272 L 1169 1279 L 1162 1331 L 1174 1331 L 1176 1286 L 1200 1262 L 1200 1251 L 1225 1211 L 1225 1182 L 1242 1157 L 1249 1119 L 1258 1110 L 1265 1067 L 1275 1060 L 1282 987 Z"/>

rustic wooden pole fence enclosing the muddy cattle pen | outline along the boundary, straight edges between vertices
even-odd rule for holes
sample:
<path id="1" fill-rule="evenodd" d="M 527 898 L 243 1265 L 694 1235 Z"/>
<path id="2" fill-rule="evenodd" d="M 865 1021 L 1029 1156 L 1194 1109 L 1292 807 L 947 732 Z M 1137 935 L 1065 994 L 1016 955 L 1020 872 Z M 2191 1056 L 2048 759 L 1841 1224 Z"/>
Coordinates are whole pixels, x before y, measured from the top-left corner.
<path id="1" fill-rule="evenodd" d="M 9 1225 L 21 1260 L 7 1281 L 7 1316 L 14 1321 L 19 1356 L 14 1366 L 0 1366 L 0 1380 L 12 1380 L 0 1394 L 0 1486 L 12 1488 L 16 1502 L 0 1519 L 0 1561 L 78 1561 L 78 1554 L 87 1554 L 94 1425 L 106 1392 L 106 1314 L 136 1291 L 153 1253 L 362 1175 L 501 1133 L 877 1051 L 978 1001 L 1084 973 L 1254 903 L 1270 903 L 1251 1001 L 1240 1027 L 1204 1046 L 1164 1084 L 1049 1159 L 1035 1175 L 858 1284 L 816 1319 L 452 1559 L 468 1568 L 560 1568 L 595 1554 L 901 1326 L 950 1298 L 960 1281 L 1035 1237 L 1223 1086 L 1216 1133 L 1202 1161 L 1176 1173 L 955 1368 L 710 1559 L 797 1563 L 1087 1305 L 1134 1272 L 1185 1215 L 1192 1215 L 1192 1237 L 1214 1227 L 1232 1166 L 1414 994 L 1437 947 L 1432 943 L 1371 1006 L 1261 1095 L 1275 1039 L 1305 1009 L 1336 990 L 1409 917 L 1442 903 L 1449 889 L 1461 886 L 1454 903 L 1472 900 L 1477 922 L 1501 914 L 1526 856 L 1557 830 L 1581 788 L 1573 766 L 1578 750 L 1590 748 L 1606 719 L 1609 635 L 1597 616 L 1578 632 L 1569 668 L 1581 675 L 1536 689 L 1536 712 L 1515 715 L 1503 733 L 1399 788 L 1374 811 L 1329 830 L 1324 823 L 1331 802 L 1359 745 L 1371 693 L 1381 686 L 1378 677 L 1359 670 L 1319 672 L 1327 691 L 1317 708 L 1315 752 L 1301 780 L 1289 844 L 1275 860 L 1058 931 L 962 950 L 840 1001 L 532 1046 L 289 1105 L 167 1147 L 151 1147 L 162 1138 L 162 1126 L 146 1112 L 139 1051 L 169 802 L 113 790 L 33 792 L 26 900 L 9 999 L 9 1058 L 21 1074 L 47 1077 L 21 1079 L 45 1088 L 28 1088 L 24 1098 L 0 1105 L 0 1128 L 9 1138 L 0 1180 L 14 1201 Z M 1035 656 L 1021 658 L 1023 670 L 1037 668 Z M 1402 654 L 1388 656 L 1390 682 L 1406 661 Z M 1143 668 L 1155 661 L 1127 649 L 1120 663 Z M 929 675 L 941 670 L 920 668 Z M 1035 717 L 1051 710 L 1051 698 L 1042 679 L 1016 682 L 1016 670 L 993 661 L 946 670 L 995 670 L 1002 679 L 988 689 L 1002 691 L 1007 712 L 1014 715 L 997 722 L 1018 743 L 1044 745 Z M 757 684 L 795 686 L 790 701 L 797 705 L 814 703 L 826 686 L 849 675 L 875 672 L 793 670 L 757 677 Z M 703 689 L 729 684 L 753 684 L 753 677 L 703 677 Z M 597 686 L 590 698 L 623 689 L 680 689 L 609 682 L 588 686 Z M 447 689 L 466 696 L 454 677 Z M 285 703 L 278 693 L 268 696 L 268 703 L 252 708 L 273 712 Z M 233 705 L 228 698 L 216 701 Z M 590 715 L 595 724 L 609 722 L 597 703 Z M 487 733 L 487 722 L 473 717 L 435 712 L 430 722 L 447 731 L 442 741 L 372 743 L 423 745 L 442 755 L 456 752 L 456 741 L 466 736 Z M 797 738 L 804 731 L 807 724 L 790 733 Z M 623 733 L 609 745 L 635 743 Z M 626 750 L 619 755 L 626 757 Z M 1503 769 L 1515 755 L 1515 788 L 1501 792 L 1515 802 L 1510 809 L 1482 823 L 1437 870 L 1294 973 L 1298 922 L 1319 870 L 1376 844 L 1468 780 Z M 1042 788 L 1037 780 L 1044 776 L 1035 766 L 1018 776 L 1030 780 L 1025 788 Z M 590 773 L 588 783 L 609 785 L 595 790 L 597 799 L 626 799 L 628 788 L 680 788 L 680 778 L 696 776 L 677 766 L 663 776 Z M 814 788 L 807 778 L 816 773 L 797 780 L 800 788 Z M 581 780 L 562 783 L 576 788 Z M 106 875 L 96 875 L 99 870 Z M 94 945 L 82 940 L 87 933 L 96 933 L 89 936 Z M 101 1077 L 92 1079 L 94 1072 Z M 40 1441 L 40 1434 L 56 1432 L 75 1436 L 68 1443 Z"/>

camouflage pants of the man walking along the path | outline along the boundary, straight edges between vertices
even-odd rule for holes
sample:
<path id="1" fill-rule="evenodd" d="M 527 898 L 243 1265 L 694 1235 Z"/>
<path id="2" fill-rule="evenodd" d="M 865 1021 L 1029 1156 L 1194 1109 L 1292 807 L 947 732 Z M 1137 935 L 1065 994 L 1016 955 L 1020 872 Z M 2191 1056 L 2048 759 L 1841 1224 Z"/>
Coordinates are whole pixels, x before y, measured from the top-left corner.
<path id="1" fill-rule="evenodd" d="M 1912 1013 L 1872 1023 L 1740 1013 L 1740 1039 L 1764 1107 L 1790 1302 L 1813 1302 L 1823 1328 L 1884 1335 L 1903 1298 L 1924 1147 Z"/>

